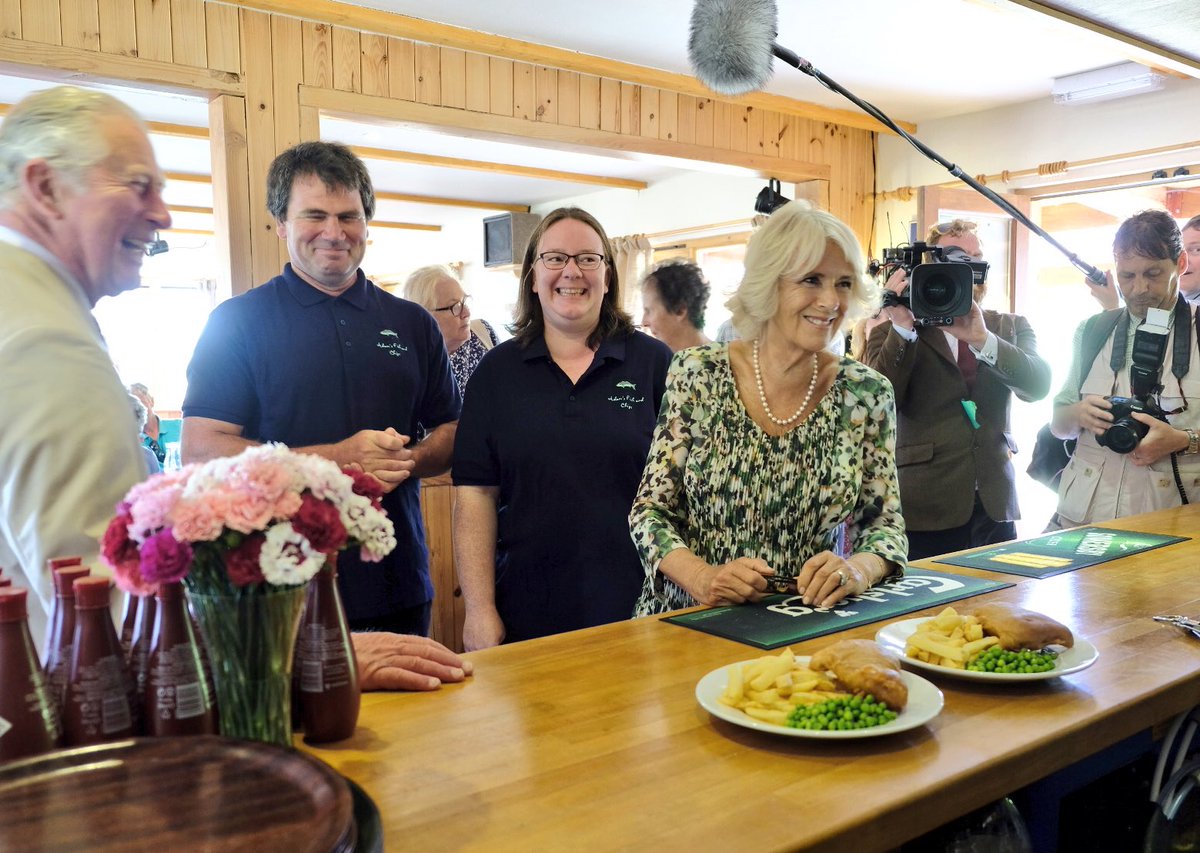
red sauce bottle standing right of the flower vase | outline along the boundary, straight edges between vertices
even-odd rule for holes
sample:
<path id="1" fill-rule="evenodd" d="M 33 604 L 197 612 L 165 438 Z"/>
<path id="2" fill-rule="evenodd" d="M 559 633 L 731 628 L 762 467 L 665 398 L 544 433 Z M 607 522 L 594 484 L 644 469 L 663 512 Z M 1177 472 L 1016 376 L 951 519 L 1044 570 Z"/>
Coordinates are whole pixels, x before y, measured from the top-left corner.
<path id="1" fill-rule="evenodd" d="M 337 591 L 337 561 L 330 557 L 308 584 L 296 653 L 304 739 L 310 744 L 343 740 L 359 721 L 359 667 Z"/>

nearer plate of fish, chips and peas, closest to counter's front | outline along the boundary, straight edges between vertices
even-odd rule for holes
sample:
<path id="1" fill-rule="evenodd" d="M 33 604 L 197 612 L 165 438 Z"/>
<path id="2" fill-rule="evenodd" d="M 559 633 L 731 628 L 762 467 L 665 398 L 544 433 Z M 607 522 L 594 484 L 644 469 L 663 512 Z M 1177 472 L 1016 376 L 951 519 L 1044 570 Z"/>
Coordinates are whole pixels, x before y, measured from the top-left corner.
<path id="1" fill-rule="evenodd" d="M 868 697 L 870 699 L 868 701 Z M 942 691 L 902 672 L 892 653 L 868 639 L 847 639 L 809 656 L 791 649 L 713 669 L 696 684 L 696 699 L 715 717 L 757 732 L 793 738 L 854 739 L 906 732 L 942 711 Z M 854 728 L 797 728 L 788 717 L 830 707 L 853 708 Z M 875 711 L 869 709 L 884 709 Z M 878 717 L 894 717 L 881 721 Z M 872 720 L 875 722 L 872 722 Z M 835 723 L 821 723 L 835 725 Z"/>

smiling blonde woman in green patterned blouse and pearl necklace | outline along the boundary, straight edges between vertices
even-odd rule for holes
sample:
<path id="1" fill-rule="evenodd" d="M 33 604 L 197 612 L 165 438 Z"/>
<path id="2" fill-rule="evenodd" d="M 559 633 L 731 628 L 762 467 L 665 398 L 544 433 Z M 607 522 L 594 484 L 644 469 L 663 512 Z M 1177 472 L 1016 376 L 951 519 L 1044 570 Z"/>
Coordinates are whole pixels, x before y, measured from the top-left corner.
<path id="1" fill-rule="evenodd" d="M 743 340 L 671 364 L 630 513 L 636 615 L 757 601 L 792 576 L 832 607 L 904 570 L 892 385 L 827 350 L 877 305 L 864 266 L 850 228 L 802 202 L 751 239 L 728 302 Z"/>

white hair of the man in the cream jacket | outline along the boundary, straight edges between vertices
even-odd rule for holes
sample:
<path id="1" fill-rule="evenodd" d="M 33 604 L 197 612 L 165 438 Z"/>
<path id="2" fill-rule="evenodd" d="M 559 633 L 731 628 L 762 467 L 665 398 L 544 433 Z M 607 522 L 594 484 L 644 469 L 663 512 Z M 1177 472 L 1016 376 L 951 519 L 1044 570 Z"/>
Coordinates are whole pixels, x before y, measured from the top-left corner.
<path id="1" fill-rule="evenodd" d="M 112 151 L 96 132 L 103 116 L 132 119 L 145 127 L 128 106 L 106 92 L 55 86 L 23 98 L 0 125 L 0 199 L 11 203 L 20 186 L 20 170 L 31 160 L 44 160 L 76 186 L 90 168 Z"/>

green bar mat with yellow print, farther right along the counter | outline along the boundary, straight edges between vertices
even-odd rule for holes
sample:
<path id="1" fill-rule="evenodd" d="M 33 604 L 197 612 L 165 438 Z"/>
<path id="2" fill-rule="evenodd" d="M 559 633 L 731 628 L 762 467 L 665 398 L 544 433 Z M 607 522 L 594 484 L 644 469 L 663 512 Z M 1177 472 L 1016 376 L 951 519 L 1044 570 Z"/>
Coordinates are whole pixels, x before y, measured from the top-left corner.
<path id="1" fill-rule="evenodd" d="M 1051 577 L 1064 571 L 1186 541 L 1187 536 L 1159 536 L 1153 533 L 1114 530 L 1106 527 L 1080 527 L 1021 542 L 1004 542 L 970 554 L 938 557 L 935 561 L 1025 577 Z"/>

